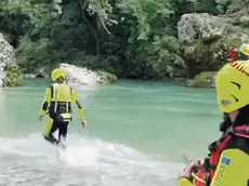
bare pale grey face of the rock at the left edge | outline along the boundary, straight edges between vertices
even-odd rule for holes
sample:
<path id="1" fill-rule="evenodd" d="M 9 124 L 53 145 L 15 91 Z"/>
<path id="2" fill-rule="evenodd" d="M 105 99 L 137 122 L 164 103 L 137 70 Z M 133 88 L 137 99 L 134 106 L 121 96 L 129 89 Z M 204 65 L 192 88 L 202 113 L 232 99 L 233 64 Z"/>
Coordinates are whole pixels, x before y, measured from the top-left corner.
<path id="1" fill-rule="evenodd" d="M 4 67 L 6 63 L 15 61 L 15 51 L 14 48 L 9 44 L 3 38 L 3 35 L 0 32 L 0 87 L 4 85 L 5 71 Z"/>

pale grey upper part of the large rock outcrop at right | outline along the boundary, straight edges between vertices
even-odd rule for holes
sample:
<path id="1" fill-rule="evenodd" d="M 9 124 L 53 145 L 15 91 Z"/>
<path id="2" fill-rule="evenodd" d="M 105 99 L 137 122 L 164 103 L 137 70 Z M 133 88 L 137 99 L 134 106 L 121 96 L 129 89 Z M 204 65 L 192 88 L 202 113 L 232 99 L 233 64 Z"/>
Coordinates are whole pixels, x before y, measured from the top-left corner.
<path id="1" fill-rule="evenodd" d="M 228 37 L 239 38 L 241 42 L 249 42 L 249 31 L 243 28 L 243 24 L 246 21 L 241 21 L 241 15 L 246 17 L 243 12 L 230 16 L 214 16 L 208 13 L 184 14 L 178 23 L 179 39 L 180 41 L 196 39 L 210 41 Z M 237 18 L 238 16 L 239 19 Z"/>

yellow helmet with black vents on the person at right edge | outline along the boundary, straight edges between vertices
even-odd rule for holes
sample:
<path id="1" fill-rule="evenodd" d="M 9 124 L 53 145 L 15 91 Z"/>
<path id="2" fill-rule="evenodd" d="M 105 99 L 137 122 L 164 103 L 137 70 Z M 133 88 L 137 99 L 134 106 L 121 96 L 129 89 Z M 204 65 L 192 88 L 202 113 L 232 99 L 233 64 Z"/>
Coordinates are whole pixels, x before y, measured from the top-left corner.
<path id="1" fill-rule="evenodd" d="M 232 112 L 249 104 L 249 62 L 237 61 L 245 71 L 226 64 L 217 75 L 218 105 L 224 112 Z"/>

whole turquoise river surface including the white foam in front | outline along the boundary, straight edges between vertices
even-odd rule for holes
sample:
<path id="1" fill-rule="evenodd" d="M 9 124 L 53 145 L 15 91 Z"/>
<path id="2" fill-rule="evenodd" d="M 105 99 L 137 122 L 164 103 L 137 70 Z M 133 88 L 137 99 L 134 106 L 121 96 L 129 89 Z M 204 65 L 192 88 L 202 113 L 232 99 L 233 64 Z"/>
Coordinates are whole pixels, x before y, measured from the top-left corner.
<path id="1" fill-rule="evenodd" d="M 0 186 L 176 186 L 188 158 L 207 155 L 220 134 L 214 90 L 119 81 L 77 88 L 67 149 L 42 138 L 38 114 L 48 81 L 0 90 Z"/>

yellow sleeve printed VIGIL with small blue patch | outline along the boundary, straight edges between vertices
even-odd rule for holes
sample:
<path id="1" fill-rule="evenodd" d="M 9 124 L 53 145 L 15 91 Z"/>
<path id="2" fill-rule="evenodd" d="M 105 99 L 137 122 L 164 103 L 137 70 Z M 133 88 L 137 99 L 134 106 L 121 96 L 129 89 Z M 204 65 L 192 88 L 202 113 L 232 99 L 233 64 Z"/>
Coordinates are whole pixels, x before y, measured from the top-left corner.
<path id="1" fill-rule="evenodd" d="M 222 152 L 210 186 L 247 185 L 249 178 L 249 156 L 239 149 Z"/>

